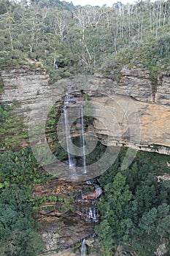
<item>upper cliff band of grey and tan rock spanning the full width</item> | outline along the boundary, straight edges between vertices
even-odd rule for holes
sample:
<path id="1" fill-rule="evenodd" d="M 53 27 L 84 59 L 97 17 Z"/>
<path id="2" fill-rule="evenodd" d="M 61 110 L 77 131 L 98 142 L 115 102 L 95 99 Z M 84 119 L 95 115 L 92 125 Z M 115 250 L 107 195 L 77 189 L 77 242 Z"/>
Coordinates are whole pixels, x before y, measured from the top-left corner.
<path id="1" fill-rule="evenodd" d="M 4 91 L 0 101 L 20 102 L 15 113 L 23 117 L 25 124 L 30 113 L 35 122 L 45 120 L 47 105 L 61 100 L 64 90 L 74 85 L 90 97 L 95 118 L 93 127 L 102 143 L 108 143 L 109 135 L 112 145 L 120 143 L 158 151 L 152 148 L 152 144 L 158 144 L 164 147 L 159 153 L 169 154 L 166 147 L 170 146 L 170 76 L 167 72 L 153 81 L 147 70 L 124 68 L 120 78 L 96 74 L 59 80 L 50 86 L 45 70 L 20 67 L 1 71 L 1 78 Z"/>

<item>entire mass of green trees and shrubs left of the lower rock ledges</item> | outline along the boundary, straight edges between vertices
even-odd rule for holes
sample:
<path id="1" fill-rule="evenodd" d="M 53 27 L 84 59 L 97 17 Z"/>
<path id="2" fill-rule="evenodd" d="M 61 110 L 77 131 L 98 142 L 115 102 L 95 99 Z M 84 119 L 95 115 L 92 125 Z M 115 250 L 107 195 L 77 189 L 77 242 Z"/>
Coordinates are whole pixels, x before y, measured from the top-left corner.
<path id="1" fill-rule="evenodd" d="M 31 148 L 0 154 L 1 255 L 39 255 L 44 248 L 36 233 L 33 185 L 47 181 L 39 172 Z"/>

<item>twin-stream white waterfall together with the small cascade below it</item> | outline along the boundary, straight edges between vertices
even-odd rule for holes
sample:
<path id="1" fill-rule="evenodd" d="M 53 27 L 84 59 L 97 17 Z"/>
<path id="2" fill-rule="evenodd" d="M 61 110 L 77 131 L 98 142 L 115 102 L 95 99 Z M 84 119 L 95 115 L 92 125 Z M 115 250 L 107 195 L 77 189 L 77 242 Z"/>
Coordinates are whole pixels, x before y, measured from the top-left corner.
<path id="1" fill-rule="evenodd" d="M 63 121 L 65 125 L 69 169 L 71 170 L 72 176 L 76 177 L 78 175 L 77 166 L 81 165 L 83 173 L 87 173 L 83 104 L 80 103 L 80 94 L 77 94 L 77 91 L 72 91 L 72 87 L 69 87 L 63 103 Z M 81 157 L 74 156 L 77 150 L 75 149 L 74 151 L 74 145 L 80 147 Z M 86 184 L 93 185 L 94 190 L 88 195 L 84 195 L 81 192 L 80 196 L 77 196 L 76 213 L 86 222 L 98 222 L 100 216 L 96 205 L 96 198 L 101 195 L 101 187 L 94 180 L 86 181 Z"/>

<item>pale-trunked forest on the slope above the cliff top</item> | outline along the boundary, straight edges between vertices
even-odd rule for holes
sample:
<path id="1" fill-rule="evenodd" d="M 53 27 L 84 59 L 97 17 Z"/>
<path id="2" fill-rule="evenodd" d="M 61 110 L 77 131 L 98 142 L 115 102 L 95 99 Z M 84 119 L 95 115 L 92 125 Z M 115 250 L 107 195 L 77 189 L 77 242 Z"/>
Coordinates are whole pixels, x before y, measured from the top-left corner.
<path id="1" fill-rule="evenodd" d="M 119 1 L 111 8 L 1 0 L 0 65 L 38 57 L 51 83 L 77 73 L 114 75 L 125 65 L 155 75 L 169 69 L 169 12 L 169 1 Z"/>

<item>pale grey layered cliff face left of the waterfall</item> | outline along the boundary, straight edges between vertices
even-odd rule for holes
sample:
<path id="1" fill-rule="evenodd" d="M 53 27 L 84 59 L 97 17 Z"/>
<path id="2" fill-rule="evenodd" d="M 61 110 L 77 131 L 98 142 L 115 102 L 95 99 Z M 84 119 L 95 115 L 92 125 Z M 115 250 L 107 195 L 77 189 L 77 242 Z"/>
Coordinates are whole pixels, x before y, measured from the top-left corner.
<path id="1" fill-rule="evenodd" d="M 30 69 L 28 66 L 11 68 L 2 70 L 1 78 L 4 90 L 0 102 L 11 104 L 17 101 L 19 105 L 15 108 L 15 114 L 23 118 L 24 124 L 28 124 L 32 110 L 36 120 L 43 118 L 39 112 L 48 105 L 50 95 L 55 93 L 56 100 L 60 97 L 60 91 L 53 90 L 53 86 L 48 84 L 49 76 L 43 69 Z"/>

